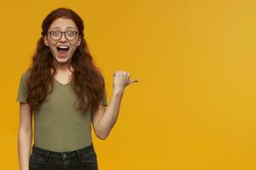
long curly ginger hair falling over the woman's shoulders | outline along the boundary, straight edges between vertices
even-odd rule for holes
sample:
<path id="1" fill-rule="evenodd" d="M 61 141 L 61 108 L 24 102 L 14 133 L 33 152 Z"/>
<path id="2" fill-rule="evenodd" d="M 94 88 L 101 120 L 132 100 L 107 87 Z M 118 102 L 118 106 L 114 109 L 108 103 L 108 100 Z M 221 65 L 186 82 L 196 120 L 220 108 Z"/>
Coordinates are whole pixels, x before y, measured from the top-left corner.
<path id="1" fill-rule="evenodd" d="M 42 23 L 42 36 L 38 40 L 36 52 L 32 57 L 32 66 L 28 69 L 30 76 L 26 79 L 27 103 L 32 110 L 38 109 L 47 95 L 52 92 L 56 70 L 49 47 L 44 44 L 44 36 L 47 35 L 50 24 L 59 18 L 73 20 L 81 38 L 81 43 L 71 61 L 73 67 L 71 87 L 78 97 L 76 103 L 79 102 L 78 107 L 83 111 L 95 111 L 105 94 L 105 82 L 85 42 L 83 20 L 69 8 L 56 8 Z"/>

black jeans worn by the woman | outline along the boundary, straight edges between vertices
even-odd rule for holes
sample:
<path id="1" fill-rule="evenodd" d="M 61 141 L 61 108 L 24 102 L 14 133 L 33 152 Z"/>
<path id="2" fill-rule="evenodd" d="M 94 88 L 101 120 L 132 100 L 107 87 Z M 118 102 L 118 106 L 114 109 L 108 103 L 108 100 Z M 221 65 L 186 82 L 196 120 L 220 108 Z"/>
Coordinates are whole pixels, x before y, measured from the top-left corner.
<path id="1" fill-rule="evenodd" d="M 55 152 L 32 145 L 29 170 L 97 170 L 93 144 L 79 150 Z"/>

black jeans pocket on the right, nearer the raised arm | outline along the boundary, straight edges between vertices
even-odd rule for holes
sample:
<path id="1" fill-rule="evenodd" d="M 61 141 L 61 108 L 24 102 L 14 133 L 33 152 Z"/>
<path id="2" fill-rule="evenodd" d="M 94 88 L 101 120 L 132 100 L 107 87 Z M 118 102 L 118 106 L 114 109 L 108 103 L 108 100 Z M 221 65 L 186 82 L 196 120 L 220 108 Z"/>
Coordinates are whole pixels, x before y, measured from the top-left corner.
<path id="1" fill-rule="evenodd" d="M 84 167 L 98 169 L 95 150 L 80 153 L 80 161 Z"/>

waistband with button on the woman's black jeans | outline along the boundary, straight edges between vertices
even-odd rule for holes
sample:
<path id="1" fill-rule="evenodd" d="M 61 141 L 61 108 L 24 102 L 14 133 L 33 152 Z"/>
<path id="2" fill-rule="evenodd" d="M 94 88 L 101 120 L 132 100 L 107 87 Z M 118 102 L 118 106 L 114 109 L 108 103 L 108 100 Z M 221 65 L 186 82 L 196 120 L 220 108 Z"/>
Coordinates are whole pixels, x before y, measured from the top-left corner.
<path id="1" fill-rule="evenodd" d="M 91 150 L 94 150 L 94 145 L 91 143 L 90 145 L 81 148 L 79 150 L 72 150 L 72 151 L 53 151 L 53 150 L 45 150 L 43 148 L 40 148 L 36 145 L 32 145 L 32 152 L 41 156 L 53 156 L 55 158 L 60 157 L 73 157 L 73 156 L 80 156 L 83 153 L 89 152 Z"/>

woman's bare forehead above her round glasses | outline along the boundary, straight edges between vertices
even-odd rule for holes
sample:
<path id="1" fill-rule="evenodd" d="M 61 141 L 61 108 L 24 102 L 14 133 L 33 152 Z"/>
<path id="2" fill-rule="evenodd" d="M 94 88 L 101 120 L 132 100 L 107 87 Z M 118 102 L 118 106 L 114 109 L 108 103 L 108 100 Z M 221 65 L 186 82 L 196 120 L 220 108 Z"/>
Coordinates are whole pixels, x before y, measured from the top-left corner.
<path id="1" fill-rule="evenodd" d="M 49 30 L 56 29 L 56 28 L 60 28 L 60 29 L 63 29 L 63 30 L 65 30 L 67 28 L 77 29 L 77 26 L 75 25 L 73 20 L 59 18 L 59 19 L 54 20 L 51 23 L 51 25 L 49 26 Z"/>

